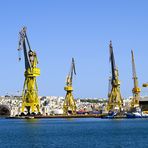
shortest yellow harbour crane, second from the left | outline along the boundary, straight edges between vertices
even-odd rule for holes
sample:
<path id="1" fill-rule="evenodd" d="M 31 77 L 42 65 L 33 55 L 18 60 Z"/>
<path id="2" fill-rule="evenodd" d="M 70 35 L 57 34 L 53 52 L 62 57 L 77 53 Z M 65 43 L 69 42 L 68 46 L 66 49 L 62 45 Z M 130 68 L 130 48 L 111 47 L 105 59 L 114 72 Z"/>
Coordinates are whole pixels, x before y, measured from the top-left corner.
<path id="1" fill-rule="evenodd" d="M 74 58 L 72 58 L 70 72 L 66 78 L 66 86 L 64 87 L 64 90 L 67 92 L 66 96 L 65 96 L 64 104 L 63 104 L 63 113 L 64 114 L 69 114 L 69 113 L 76 114 L 76 103 L 75 103 L 74 97 L 72 95 L 73 73 L 76 75 Z"/>

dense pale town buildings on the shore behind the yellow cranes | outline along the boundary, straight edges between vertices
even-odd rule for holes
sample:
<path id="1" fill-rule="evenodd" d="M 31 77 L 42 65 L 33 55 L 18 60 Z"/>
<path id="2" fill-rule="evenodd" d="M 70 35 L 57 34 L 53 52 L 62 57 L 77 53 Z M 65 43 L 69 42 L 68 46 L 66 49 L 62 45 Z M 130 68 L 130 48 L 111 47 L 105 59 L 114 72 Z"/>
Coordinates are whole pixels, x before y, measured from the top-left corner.
<path id="1" fill-rule="evenodd" d="M 130 111 L 133 97 L 123 99 L 123 111 Z M 143 110 L 148 110 L 148 96 L 141 97 L 141 107 Z M 60 96 L 39 96 L 40 113 L 42 116 L 49 115 L 63 115 L 63 105 L 65 97 Z M 15 117 L 21 114 L 22 111 L 22 97 L 21 96 L 0 96 L 0 115 Z M 106 106 L 108 104 L 107 98 L 78 98 L 75 99 L 76 114 L 107 114 Z M 24 114 L 27 114 L 27 110 Z M 68 114 L 70 115 L 70 114 Z"/>

